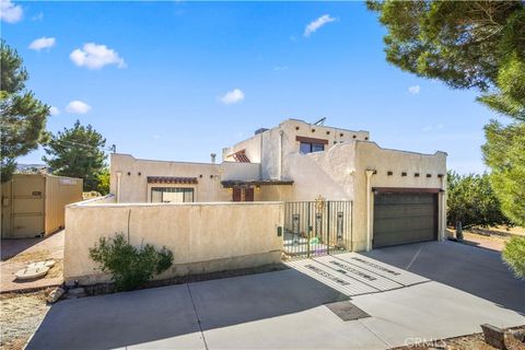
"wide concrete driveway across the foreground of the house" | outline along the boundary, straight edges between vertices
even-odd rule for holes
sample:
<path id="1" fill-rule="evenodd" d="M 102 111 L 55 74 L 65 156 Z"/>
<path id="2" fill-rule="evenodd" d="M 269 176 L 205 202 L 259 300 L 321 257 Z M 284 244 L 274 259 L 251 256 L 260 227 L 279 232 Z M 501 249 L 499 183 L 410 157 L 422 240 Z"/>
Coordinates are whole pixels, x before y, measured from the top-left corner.
<path id="1" fill-rule="evenodd" d="M 469 264 L 483 267 L 477 271 L 486 277 L 475 277 L 476 283 L 490 285 L 495 275 L 506 273 L 493 281 L 506 285 L 493 288 L 506 288 L 508 304 L 520 310 L 522 301 L 523 306 L 525 285 L 498 259 L 475 247 L 430 243 L 302 260 L 269 273 L 59 302 L 27 348 L 387 349 L 413 338 L 478 332 L 483 323 L 525 324 L 523 315 L 501 302 L 410 272 L 425 260 L 436 262 L 432 258 L 440 252 L 455 249 L 468 255 L 463 259 Z M 402 257 L 396 260 L 390 250 L 400 250 Z M 385 262 L 388 258 L 393 264 Z M 427 269 L 452 282 L 466 278 L 466 262 L 448 258 L 444 254 Z M 504 299 L 503 293 L 492 294 Z M 368 315 L 341 319 L 326 306 L 340 301 Z"/>

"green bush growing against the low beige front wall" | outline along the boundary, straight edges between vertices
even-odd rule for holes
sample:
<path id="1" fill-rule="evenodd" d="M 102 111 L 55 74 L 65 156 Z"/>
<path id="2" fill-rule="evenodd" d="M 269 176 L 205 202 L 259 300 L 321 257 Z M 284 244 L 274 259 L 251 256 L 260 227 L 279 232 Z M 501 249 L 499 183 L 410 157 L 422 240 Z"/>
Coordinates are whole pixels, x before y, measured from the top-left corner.
<path id="1" fill-rule="evenodd" d="M 101 237 L 98 244 L 90 248 L 90 257 L 98 262 L 102 271 L 113 276 L 117 291 L 137 289 L 173 264 L 173 253 L 165 247 L 156 250 L 151 244 L 141 244 L 137 248 L 121 233 Z"/>

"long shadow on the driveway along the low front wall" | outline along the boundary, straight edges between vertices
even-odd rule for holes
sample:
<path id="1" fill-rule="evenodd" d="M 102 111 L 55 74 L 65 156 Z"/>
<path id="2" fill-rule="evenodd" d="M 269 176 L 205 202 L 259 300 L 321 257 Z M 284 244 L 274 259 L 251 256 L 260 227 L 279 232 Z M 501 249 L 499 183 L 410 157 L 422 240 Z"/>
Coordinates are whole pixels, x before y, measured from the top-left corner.
<path id="1" fill-rule="evenodd" d="M 27 349 L 110 349 L 185 335 L 170 346 L 196 348 L 201 329 L 342 300 L 348 296 L 293 269 L 69 300 L 50 308 Z"/>

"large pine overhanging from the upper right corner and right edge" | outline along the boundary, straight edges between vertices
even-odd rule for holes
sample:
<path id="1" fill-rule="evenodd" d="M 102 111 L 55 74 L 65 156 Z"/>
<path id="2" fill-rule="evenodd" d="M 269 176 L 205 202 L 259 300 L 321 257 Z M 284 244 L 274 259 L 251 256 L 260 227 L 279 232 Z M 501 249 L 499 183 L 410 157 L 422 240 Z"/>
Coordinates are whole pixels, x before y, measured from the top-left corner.
<path id="1" fill-rule="evenodd" d="M 368 5 L 387 28 L 388 62 L 454 89 L 477 89 L 479 102 L 512 118 L 508 126 L 492 120 L 486 127 L 483 155 L 504 213 L 525 225 L 525 3 L 369 1 Z"/>

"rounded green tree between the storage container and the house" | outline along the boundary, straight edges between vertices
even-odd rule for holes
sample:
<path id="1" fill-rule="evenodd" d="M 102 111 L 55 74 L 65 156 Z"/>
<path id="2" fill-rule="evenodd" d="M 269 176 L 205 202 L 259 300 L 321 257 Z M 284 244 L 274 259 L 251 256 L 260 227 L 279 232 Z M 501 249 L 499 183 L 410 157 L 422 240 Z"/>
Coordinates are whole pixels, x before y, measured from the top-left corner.
<path id="1" fill-rule="evenodd" d="M 81 177 L 84 190 L 96 190 L 98 176 L 106 167 L 105 145 L 106 139 L 100 132 L 77 120 L 71 129 L 65 128 L 50 136 L 43 161 L 54 174 Z"/>

